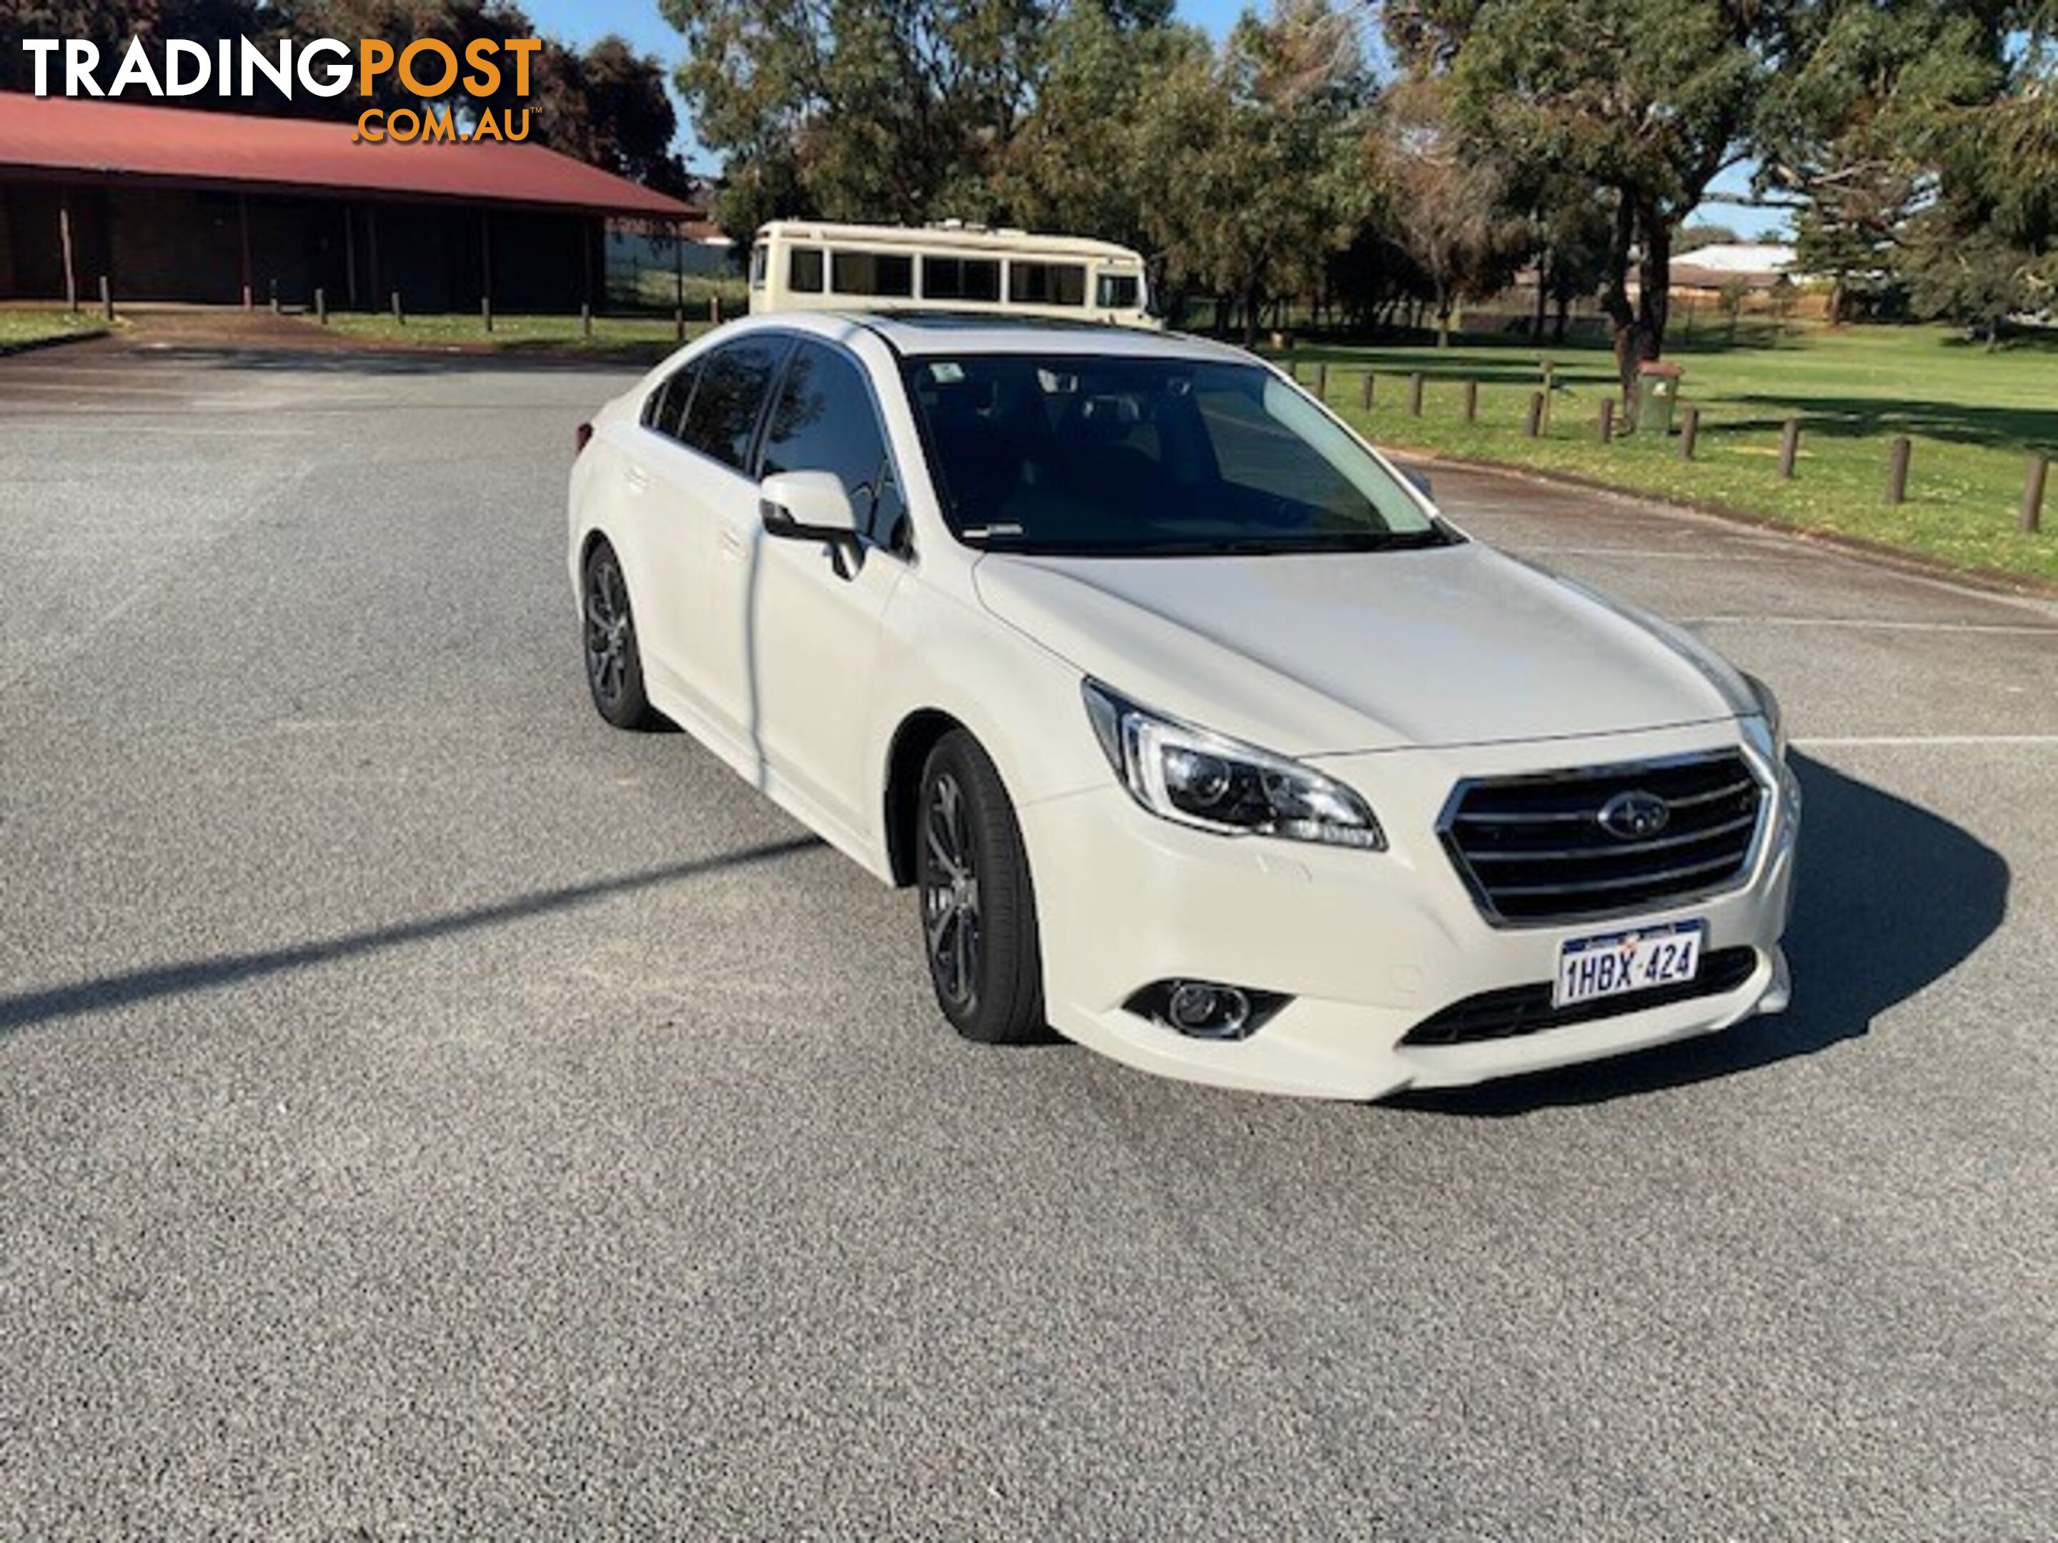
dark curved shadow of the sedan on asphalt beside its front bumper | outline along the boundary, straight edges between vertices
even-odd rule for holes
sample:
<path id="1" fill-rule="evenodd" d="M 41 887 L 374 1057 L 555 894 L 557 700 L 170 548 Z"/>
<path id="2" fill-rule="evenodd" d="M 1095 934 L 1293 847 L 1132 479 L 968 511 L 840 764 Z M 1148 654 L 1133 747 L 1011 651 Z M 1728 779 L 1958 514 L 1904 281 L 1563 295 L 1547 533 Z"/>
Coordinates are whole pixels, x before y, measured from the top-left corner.
<path id="1" fill-rule="evenodd" d="M 1509 1117 L 1601 1103 L 1753 1072 L 1860 1039 L 1873 1020 L 1957 969 L 2009 907 L 2009 864 L 1951 821 L 1793 755 L 1803 821 L 1799 891 L 1786 930 L 1793 1006 L 1718 1035 L 1476 1088 L 1389 1103 L 1445 1115 Z"/>

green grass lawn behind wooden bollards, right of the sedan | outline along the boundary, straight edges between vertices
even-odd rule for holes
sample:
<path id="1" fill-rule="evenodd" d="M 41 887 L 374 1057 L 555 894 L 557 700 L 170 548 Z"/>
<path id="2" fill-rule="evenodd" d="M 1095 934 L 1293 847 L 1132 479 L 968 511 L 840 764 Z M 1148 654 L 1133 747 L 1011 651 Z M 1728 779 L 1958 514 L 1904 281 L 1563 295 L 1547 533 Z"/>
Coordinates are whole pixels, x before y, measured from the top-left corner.
<path id="1" fill-rule="evenodd" d="M 1550 426 L 1523 434 L 1541 360 L 1560 391 Z M 1375 442 L 1591 477 L 1803 529 L 1838 531 L 1939 558 L 1957 568 L 2058 578 L 2058 471 L 2044 531 L 2017 529 L 2031 451 L 2058 457 L 2058 346 L 2019 342 L 1998 354 L 1939 327 L 1807 329 L 1776 335 L 1745 325 L 1737 344 L 1702 327 L 1669 352 L 1686 368 L 1681 407 L 1700 409 L 1692 463 L 1677 438 L 1601 444 L 1595 420 L 1613 393 L 1601 348 L 1467 339 L 1436 348 L 1292 352 L 1303 381 L 1329 366 L 1329 401 Z M 1364 370 L 1377 379 L 1358 409 Z M 1422 416 L 1408 411 L 1408 374 L 1426 376 Z M 1478 422 L 1463 422 L 1463 387 L 1480 383 Z M 1778 475 L 1780 426 L 1801 420 L 1793 481 Z M 1908 502 L 1883 504 L 1887 444 L 1914 442 Z"/>

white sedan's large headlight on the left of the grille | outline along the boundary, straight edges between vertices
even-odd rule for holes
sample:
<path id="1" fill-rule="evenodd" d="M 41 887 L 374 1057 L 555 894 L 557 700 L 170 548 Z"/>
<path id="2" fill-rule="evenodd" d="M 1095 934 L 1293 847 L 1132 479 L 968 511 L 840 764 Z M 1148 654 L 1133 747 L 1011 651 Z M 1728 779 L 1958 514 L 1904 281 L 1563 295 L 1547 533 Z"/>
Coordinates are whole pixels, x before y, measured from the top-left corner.
<path id="1" fill-rule="evenodd" d="M 1080 685 L 1093 732 L 1130 796 L 1163 819 L 1225 835 L 1278 835 L 1385 852 L 1367 802 L 1336 778 Z"/>

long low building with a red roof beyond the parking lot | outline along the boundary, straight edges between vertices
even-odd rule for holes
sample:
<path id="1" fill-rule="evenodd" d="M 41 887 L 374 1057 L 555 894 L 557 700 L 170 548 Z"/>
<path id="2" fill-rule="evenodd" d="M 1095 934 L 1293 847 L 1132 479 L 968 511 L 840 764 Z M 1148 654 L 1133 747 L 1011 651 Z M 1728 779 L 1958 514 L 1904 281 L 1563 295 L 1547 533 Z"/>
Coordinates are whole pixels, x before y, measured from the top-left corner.
<path id="1" fill-rule="evenodd" d="M 576 311 L 607 224 L 700 208 L 539 144 L 356 144 L 354 125 L 0 93 L 0 298 Z M 696 235 L 698 232 L 698 235 Z"/>

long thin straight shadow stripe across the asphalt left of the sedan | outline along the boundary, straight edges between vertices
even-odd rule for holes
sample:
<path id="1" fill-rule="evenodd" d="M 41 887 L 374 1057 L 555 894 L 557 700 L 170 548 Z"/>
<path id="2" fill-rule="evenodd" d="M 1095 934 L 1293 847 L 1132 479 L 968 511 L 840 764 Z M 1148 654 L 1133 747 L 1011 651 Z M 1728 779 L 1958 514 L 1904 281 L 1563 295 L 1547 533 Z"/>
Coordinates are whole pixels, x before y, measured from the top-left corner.
<path id="1" fill-rule="evenodd" d="M 529 895 L 496 901 L 492 905 L 471 905 L 461 911 L 424 916 L 414 922 L 393 922 L 391 926 L 364 928 L 362 932 L 342 932 L 331 938 L 286 944 L 282 948 L 261 948 L 253 953 L 214 955 L 210 959 L 185 959 L 171 965 L 150 965 L 146 969 L 99 975 L 72 985 L 54 985 L 39 992 L 0 996 L 0 1035 L 29 1029 L 56 1018 L 74 1018 L 86 1012 L 107 1012 L 136 1002 L 150 1002 L 187 992 L 204 992 L 218 985 L 280 975 L 284 971 L 327 965 L 354 955 L 381 953 L 416 942 L 449 938 L 477 928 L 525 922 L 552 911 L 568 911 L 578 905 L 628 895 L 642 889 L 659 889 L 685 878 L 718 872 L 722 868 L 747 868 L 761 862 L 778 862 L 799 852 L 811 852 L 823 844 L 813 835 L 799 835 L 784 841 L 766 841 L 739 852 L 718 852 L 706 858 L 685 858 L 665 862 L 638 872 L 595 878 L 582 885 L 562 885 L 539 889 Z"/>

